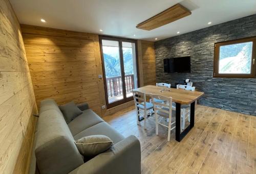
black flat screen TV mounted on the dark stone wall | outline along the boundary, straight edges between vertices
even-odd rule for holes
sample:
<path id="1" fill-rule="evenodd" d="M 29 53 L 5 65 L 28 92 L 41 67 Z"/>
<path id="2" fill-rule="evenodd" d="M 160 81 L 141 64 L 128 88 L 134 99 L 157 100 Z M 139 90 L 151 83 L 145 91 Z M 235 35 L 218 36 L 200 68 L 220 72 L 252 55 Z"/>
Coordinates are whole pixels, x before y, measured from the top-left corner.
<path id="1" fill-rule="evenodd" d="M 190 56 L 163 59 L 164 72 L 187 73 L 190 72 Z"/>

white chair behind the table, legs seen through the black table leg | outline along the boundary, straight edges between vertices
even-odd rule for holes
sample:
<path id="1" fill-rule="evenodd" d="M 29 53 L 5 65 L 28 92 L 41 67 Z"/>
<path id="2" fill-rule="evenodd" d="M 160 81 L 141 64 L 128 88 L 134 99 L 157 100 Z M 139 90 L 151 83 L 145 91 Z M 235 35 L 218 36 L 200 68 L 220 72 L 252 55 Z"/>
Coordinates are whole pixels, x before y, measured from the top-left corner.
<path id="1" fill-rule="evenodd" d="M 189 85 L 177 85 L 177 89 L 185 89 L 185 90 L 190 90 L 190 91 L 195 91 L 196 87 L 192 87 Z M 175 107 L 173 105 L 173 107 Z M 190 122 L 190 104 L 189 105 L 181 105 L 181 119 L 182 119 L 182 129 L 184 130 L 185 128 L 185 120 L 188 117 L 188 122 Z"/>

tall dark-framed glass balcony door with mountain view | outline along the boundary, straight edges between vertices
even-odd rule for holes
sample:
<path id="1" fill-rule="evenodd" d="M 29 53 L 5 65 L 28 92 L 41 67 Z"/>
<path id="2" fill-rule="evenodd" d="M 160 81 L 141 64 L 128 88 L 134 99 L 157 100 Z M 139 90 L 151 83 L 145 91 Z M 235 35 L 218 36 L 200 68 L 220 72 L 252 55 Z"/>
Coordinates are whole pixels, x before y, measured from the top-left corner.
<path id="1" fill-rule="evenodd" d="M 133 100 L 138 87 L 136 41 L 100 37 L 107 108 Z"/>

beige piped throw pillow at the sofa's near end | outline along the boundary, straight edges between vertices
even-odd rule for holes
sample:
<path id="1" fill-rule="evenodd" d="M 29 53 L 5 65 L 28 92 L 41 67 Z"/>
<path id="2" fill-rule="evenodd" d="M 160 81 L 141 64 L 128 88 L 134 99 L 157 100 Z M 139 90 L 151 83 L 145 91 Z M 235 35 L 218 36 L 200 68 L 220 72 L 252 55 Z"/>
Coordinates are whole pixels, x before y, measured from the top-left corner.
<path id="1" fill-rule="evenodd" d="M 108 150 L 113 141 L 105 135 L 90 135 L 74 141 L 78 151 L 84 157 L 93 157 Z"/>

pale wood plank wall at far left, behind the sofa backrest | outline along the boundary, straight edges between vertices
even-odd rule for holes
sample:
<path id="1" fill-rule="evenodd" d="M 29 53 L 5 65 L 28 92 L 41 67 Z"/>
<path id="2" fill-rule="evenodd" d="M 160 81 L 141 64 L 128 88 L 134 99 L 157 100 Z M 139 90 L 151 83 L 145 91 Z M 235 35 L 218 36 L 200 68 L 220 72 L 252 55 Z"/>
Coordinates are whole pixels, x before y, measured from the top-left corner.
<path id="1" fill-rule="evenodd" d="M 17 17 L 0 1 L 0 173 L 28 173 L 37 113 Z"/>

